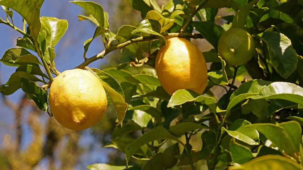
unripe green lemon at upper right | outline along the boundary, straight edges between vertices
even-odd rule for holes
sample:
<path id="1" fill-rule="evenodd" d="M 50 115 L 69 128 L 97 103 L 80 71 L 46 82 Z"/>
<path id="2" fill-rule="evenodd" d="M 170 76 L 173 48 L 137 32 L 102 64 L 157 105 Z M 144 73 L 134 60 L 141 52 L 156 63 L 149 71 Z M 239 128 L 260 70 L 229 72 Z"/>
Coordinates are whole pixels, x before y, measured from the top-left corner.
<path id="1" fill-rule="evenodd" d="M 229 65 L 243 65 L 254 55 L 255 42 L 244 29 L 231 28 L 221 35 L 218 52 Z"/>

